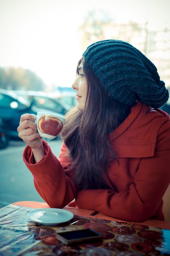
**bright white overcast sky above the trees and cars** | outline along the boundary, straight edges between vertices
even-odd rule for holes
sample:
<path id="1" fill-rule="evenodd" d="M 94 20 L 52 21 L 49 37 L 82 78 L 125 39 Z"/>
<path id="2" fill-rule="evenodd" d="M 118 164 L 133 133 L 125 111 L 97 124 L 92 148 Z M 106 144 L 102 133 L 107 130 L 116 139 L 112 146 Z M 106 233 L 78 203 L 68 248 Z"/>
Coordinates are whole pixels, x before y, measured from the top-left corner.
<path id="1" fill-rule="evenodd" d="M 170 28 L 170 0 L 0 0 L 0 66 L 24 67 L 47 85 L 71 86 L 82 56 L 78 26 L 93 8 L 117 22 Z"/>

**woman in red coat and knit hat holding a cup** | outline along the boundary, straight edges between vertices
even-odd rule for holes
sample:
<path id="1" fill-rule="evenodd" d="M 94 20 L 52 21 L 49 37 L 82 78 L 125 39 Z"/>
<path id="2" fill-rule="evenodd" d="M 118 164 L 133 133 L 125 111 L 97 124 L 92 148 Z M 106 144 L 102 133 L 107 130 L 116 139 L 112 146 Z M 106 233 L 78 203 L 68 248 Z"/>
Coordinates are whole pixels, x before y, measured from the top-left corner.
<path id="1" fill-rule="evenodd" d="M 59 159 L 39 137 L 34 116 L 21 117 L 17 130 L 35 188 L 50 207 L 163 220 L 170 119 L 157 109 L 168 90 L 155 65 L 129 43 L 103 40 L 87 47 L 77 74 L 77 106 L 66 115 Z"/>

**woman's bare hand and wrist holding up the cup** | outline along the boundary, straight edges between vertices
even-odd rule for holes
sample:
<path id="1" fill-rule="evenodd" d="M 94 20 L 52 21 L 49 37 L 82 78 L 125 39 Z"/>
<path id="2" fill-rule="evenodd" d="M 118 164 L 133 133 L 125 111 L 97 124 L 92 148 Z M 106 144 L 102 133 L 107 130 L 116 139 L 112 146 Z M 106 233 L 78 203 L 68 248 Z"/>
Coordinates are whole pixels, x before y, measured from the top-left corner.
<path id="1" fill-rule="evenodd" d="M 37 132 L 35 124 L 35 115 L 24 114 L 20 118 L 20 125 L 17 128 L 18 136 L 32 148 L 35 162 L 41 160 L 45 155 L 42 144 L 42 138 Z"/>

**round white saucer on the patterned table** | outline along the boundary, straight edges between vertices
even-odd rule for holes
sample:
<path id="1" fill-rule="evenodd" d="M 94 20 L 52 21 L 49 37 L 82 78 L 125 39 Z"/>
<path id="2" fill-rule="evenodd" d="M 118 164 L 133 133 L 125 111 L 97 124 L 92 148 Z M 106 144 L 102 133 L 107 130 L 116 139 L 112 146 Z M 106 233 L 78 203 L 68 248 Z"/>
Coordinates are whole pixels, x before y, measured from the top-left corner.
<path id="1" fill-rule="evenodd" d="M 28 218 L 45 225 L 54 225 L 71 220 L 74 215 L 71 211 L 57 208 L 42 208 L 30 211 Z"/>

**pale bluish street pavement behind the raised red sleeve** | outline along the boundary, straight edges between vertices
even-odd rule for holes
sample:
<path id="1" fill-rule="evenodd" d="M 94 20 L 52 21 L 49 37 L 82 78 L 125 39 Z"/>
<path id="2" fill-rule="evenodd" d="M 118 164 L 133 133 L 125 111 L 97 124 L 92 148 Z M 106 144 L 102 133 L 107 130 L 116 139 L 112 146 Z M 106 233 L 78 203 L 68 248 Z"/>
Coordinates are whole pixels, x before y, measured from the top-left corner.
<path id="1" fill-rule="evenodd" d="M 58 157 L 62 141 L 48 143 Z M 7 148 L 0 149 L 0 208 L 18 201 L 44 202 L 35 190 L 33 176 L 22 160 L 25 146 L 23 141 L 13 140 Z"/>

